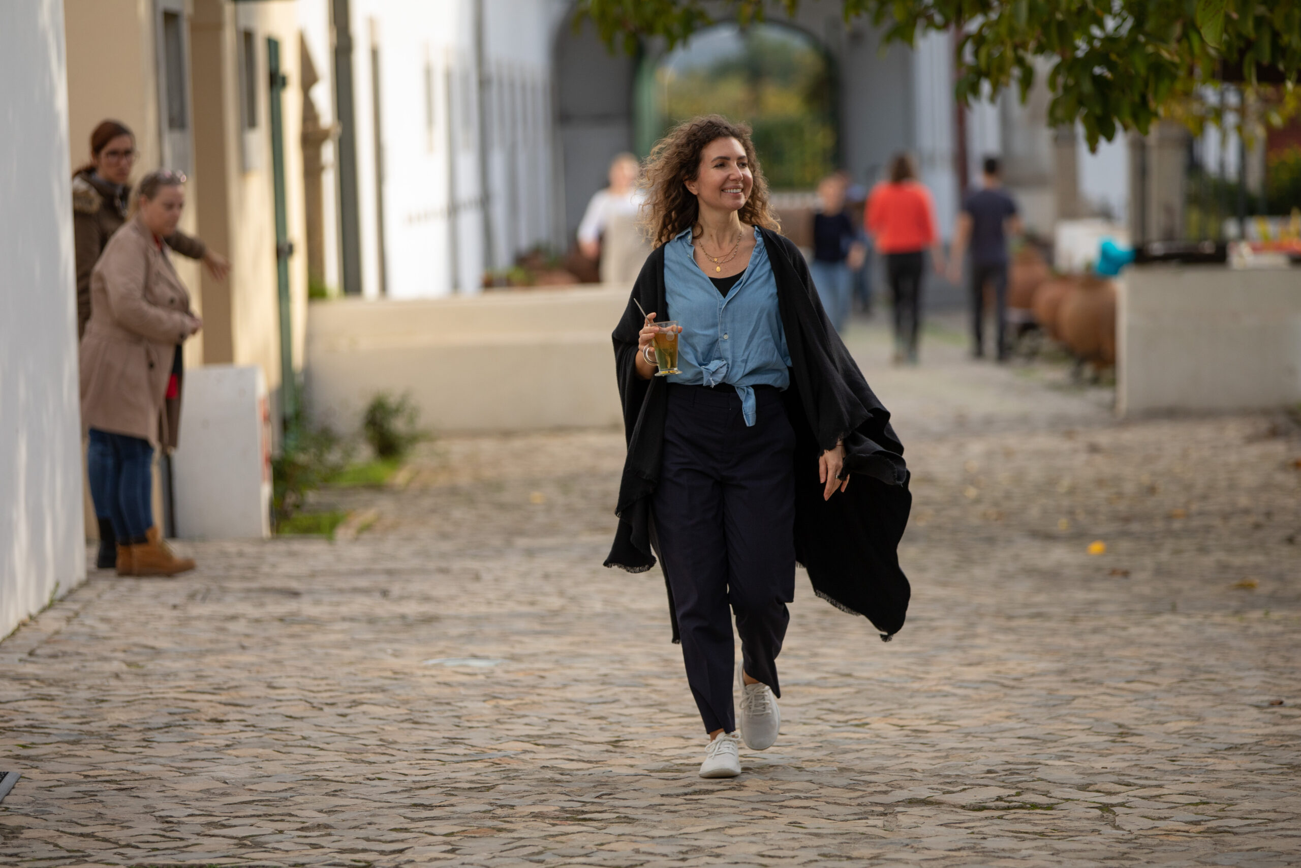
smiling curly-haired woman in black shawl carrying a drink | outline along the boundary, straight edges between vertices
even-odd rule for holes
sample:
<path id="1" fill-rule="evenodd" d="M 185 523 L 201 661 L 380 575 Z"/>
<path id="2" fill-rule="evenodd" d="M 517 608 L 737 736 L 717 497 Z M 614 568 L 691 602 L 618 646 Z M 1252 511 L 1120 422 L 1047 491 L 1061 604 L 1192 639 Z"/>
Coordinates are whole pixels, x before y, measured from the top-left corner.
<path id="1" fill-rule="evenodd" d="M 679 125 L 643 185 L 656 249 L 613 336 L 628 454 L 605 565 L 641 573 L 658 554 L 710 738 L 700 774 L 735 777 L 731 614 L 740 737 L 761 751 L 781 726 L 775 660 L 796 562 L 882 638 L 903 626 L 908 470 L 804 258 L 777 232 L 749 128 L 717 115 Z M 670 320 L 679 372 L 656 376 L 656 323 Z"/>

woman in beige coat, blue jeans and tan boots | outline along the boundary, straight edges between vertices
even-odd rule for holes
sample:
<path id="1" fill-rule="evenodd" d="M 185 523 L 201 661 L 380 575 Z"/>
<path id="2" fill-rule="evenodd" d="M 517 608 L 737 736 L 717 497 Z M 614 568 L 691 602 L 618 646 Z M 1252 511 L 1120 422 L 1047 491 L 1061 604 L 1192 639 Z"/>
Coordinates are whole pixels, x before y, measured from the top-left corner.
<path id="1" fill-rule="evenodd" d="M 152 172 L 137 190 L 135 215 L 109 238 L 90 277 L 91 316 L 81 342 L 82 426 L 95 513 L 108 515 L 118 575 L 176 575 L 194 567 L 163 541 L 152 514 L 154 449 L 176 419 L 173 360 L 199 331 L 190 293 L 164 239 L 185 207 L 185 176 Z"/>

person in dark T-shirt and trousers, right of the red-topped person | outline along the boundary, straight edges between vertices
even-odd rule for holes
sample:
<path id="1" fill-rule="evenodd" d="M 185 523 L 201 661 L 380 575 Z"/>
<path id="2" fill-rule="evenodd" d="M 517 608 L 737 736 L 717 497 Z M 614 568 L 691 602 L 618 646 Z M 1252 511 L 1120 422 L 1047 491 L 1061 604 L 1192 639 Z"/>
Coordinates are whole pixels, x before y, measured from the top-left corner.
<path id="1" fill-rule="evenodd" d="M 998 177 L 997 157 L 985 157 L 981 189 L 967 197 L 958 217 L 948 277 L 955 284 L 963 278 L 963 251 L 972 251 L 972 355 L 985 355 L 985 288 L 994 289 L 998 318 L 995 355 L 1006 362 L 1007 346 L 1007 237 L 1021 234 L 1016 203 L 1003 190 Z"/>

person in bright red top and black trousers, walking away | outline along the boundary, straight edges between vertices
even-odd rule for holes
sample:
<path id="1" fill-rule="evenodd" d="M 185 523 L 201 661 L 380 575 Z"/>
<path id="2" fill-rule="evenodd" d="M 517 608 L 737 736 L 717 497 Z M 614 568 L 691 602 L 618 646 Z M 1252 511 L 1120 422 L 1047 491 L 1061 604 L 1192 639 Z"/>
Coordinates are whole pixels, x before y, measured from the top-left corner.
<path id="1" fill-rule="evenodd" d="M 935 207 L 930 191 L 917 181 L 917 169 L 907 154 L 890 163 L 890 180 L 878 183 L 868 198 L 865 223 L 885 256 L 886 278 L 894 306 L 895 363 L 917 363 L 921 331 L 925 251 L 930 249 L 937 273 L 945 273 L 945 251 L 935 230 Z"/>

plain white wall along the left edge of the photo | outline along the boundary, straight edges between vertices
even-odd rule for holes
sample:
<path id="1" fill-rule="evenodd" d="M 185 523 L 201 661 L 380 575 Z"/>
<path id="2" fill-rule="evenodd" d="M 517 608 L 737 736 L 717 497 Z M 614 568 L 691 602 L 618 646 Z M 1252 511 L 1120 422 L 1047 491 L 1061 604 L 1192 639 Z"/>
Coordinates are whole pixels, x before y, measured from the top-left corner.
<path id="1" fill-rule="evenodd" d="M 0 636 L 86 579 L 62 16 L 0 27 Z"/>

